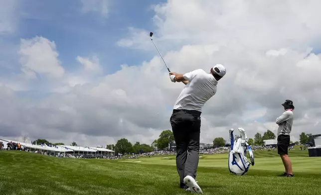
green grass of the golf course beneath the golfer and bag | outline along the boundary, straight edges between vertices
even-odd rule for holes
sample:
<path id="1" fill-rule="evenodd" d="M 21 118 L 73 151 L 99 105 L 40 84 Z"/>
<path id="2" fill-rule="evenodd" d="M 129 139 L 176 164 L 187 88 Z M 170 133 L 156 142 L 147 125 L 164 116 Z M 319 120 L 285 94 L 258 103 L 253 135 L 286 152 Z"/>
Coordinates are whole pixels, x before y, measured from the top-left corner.
<path id="1" fill-rule="evenodd" d="M 197 181 L 205 195 L 317 195 L 321 158 L 290 151 L 295 178 L 280 178 L 276 151 L 256 151 L 246 176 L 230 175 L 227 154 L 201 155 Z M 268 156 L 268 158 L 263 158 Z M 125 162 L 124 162 L 125 161 Z M 135 162 L 140 161 L 140 162 Z M 69 159 L 0 152 L 0 195 L 185 195 L 174 156 L 135 160 Z"/>

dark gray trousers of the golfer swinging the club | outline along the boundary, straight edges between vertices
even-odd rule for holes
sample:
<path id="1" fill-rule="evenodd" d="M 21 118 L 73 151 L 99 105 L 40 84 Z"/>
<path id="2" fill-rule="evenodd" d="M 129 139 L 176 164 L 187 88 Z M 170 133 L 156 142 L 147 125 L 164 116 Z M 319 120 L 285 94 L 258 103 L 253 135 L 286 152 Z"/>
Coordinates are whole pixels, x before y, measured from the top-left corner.
<path id="1" fill-rule="evenodd" d="M 196 178 L 199 154 L 201 112 L 195 110 L 173 110 L 170 124 L 176 143 L 176 168 L 180 187 L 186 176 Z"/>

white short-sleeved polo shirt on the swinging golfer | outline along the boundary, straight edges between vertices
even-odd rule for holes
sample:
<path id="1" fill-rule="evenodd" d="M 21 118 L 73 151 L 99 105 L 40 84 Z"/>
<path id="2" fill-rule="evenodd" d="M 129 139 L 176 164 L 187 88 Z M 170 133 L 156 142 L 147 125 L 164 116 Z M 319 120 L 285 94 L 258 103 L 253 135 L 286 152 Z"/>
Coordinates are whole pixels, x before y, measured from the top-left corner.
<path id="1" fill-rule="evenodd" d="M 205 102 L 216 94 L 217 81 L 202 69 L 184 74 L 188 84 L 180 92 L 174 109 L 202 111 Z"/>

